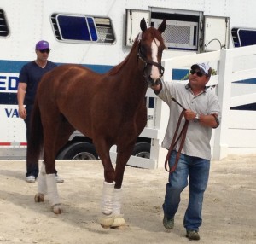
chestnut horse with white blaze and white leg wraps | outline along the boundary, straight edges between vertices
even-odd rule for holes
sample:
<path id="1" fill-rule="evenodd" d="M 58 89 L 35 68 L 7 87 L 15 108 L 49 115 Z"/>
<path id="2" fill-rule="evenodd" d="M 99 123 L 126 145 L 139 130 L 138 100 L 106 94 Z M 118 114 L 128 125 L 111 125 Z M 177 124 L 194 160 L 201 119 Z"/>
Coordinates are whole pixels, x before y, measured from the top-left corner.
<path id="1" fill-rule="evenodd" d="M 143 19 L 140 27 L 142 32 L 129 55 L 108 73 L 63 65 L 46 73 L 38 85 L 27 160 L 38 163 L 44 148 L 35 201 L 44 201 L 47 194 L 56 214 L 61 213 L 61 203 L 55 182 L 55 156 L 78 130 L 92 139 L 104 168 L 99 222 L 104 228 L 125 225 L 121 215 L 125 166 L 146 125 L 148 86 L 159 82 L 164 72 L 160 65 L 165 49 L 161 33 L 166 29 L 166 20 L 155 29 L 148 28 Z M 118 152 L 115 168 L 109 156 L 113 145 Z"/>

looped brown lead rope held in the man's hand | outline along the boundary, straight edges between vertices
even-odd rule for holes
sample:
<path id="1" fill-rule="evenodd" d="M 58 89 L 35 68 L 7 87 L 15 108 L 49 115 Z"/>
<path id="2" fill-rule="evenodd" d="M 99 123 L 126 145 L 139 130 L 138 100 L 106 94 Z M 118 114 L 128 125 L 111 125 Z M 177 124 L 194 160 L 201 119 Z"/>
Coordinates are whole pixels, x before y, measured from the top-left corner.
<path id="1" fill-rule="evenodd" d="M 177 102 L 174 97 L 173 97 L 172 100 L 173 100 L 174 102 Z M 178 102 L 177 102 L 177 104 L 180 105 Z M 180 105 L 180 106 L 181 106 L 181 105 Z M 182 107 L 182 106 L 181 106 L 181 107 Z M 181 151 L 182 151 L 182 148 L 183 148 L 183 145 L 184 145 L 184 142 L 185 142 L 186 134 L 187 134 L 187 131 L 188 131 L 189 120 L 186 119 L 186 120 L 185 120 L 185 123 L 184 123 L 184 125 L 183 125 L 183 129 L 180 131 L 179 136 L 177 137 L 177 131 L 178 131 L 179 127 L 180 127 L 181 120 L 182 120 L 182 118 L 183 118 L 183 114 L 184 114 L 185 111 L 186 111 L 186 109 L 183 108 L 182 113 L 180 113 L 180 116 L 179 116 L 178 121 L 177 121 L 176 131 L 175 131 L 174 136 L 173 136 L 173 138 L 172 138 L 171 146 L 170 146 L 170 148 L 169 148 L 169 150 L 168 150 L 168 153 L 167 153 L 167 155 L 166 155 L 165 169 L 166 169 L 166 171 L 169 172 L 169 173 L 172 173 L 172 172 L 175 171 L 176 168 L 177 168 L 177 162 L 178 162 L 178 160 L 179 160 L 179 158 L 180 158 L 180 154 L 181 154 Z M 177 137 L 177 140 L 176 140 L 176 137 Z M 177 151 L 177 156 L 176 156 L 176 159 L 175 159 L 175 164 L 174 164 L 174 166 L 172 166 L 171 169 L 170 169 L 170 167 L 169 167 L 169 170 L 168 170 L 167 166 L 168 166 L 168 161 L 169 161 L 169 159 L 170 159 L 172 150 L 173 150 L 173 148 L 175 147 L 175 145 L 177 144 L 177 142 L 178 142 L 178 140 L 179 140 L 180 138 L 181 138 L 181 142 L 180 142 L 180 145 L 179 145 L 179 148 L 178 148 L 178 151 Z"/>

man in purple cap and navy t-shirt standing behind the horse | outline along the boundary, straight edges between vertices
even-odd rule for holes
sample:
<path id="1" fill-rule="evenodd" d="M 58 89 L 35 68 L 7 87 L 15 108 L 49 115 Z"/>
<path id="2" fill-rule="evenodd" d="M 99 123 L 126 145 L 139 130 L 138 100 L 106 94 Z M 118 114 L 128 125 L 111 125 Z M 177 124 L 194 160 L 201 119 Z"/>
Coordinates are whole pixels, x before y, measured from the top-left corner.
<path id="1" fill-rule="evenodd" d="M 19 116 L 21 119 L 24 119 L 26 124 L 26 141 L 30 137 L 30 119 L 38 89 L 38 83 L 44 73 L 47 73 L 56 67 L 55 63 L 48 61 L 49 51 L 49 43 L 47 41 L 39 41 L 36 44 L 37 59 L 35 61 L 28 62 L 20 71 L 17 99 L 19 105 Z M 64 182 L 63 179 L 58 177 L 57 171 L 55 171 L 55 174 L 56 182 Z M 26 182 L 34 183 L 37 177 L 38 165 L 28 164 L 26 161 Z"/>

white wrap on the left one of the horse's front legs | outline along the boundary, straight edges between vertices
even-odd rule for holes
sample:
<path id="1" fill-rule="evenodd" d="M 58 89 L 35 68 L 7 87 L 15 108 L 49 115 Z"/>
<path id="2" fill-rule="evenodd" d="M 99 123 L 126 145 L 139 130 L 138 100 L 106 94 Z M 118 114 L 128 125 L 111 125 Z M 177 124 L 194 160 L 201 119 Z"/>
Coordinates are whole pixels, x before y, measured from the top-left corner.
<path id="1" fill-rule="evenodd" d="M 102 213 L 104 214 L 111 214 L 113 212 L 113 187 L 114 183 L 103 183 Z"/>

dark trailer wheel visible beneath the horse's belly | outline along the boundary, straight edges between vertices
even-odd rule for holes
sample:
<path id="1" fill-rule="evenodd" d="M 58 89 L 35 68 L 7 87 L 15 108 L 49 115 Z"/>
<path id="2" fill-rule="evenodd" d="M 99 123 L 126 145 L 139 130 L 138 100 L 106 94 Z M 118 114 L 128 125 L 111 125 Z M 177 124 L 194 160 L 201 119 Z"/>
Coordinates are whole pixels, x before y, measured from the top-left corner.
<path id="1" fill-rule="evenodd" d="M 64 148 L 57 160 L 97 160 L 96 148 L 89 142 L 76 142 Z"/>

